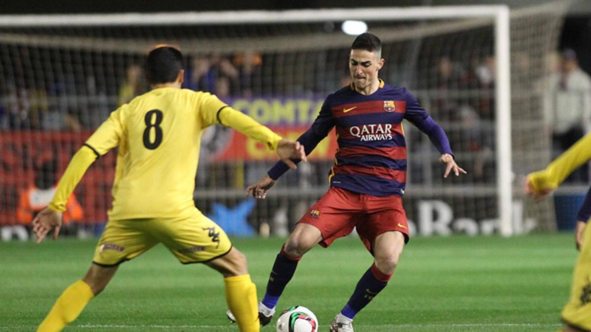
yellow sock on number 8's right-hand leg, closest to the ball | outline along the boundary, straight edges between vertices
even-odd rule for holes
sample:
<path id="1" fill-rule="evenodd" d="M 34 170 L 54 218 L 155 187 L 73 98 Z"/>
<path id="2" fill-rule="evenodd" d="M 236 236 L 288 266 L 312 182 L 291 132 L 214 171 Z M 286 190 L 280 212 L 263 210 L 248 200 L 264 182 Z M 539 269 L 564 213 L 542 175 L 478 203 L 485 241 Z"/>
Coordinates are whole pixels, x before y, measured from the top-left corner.
<path id="1" fill-rule="evenodd" d="M 236 317 L 241 332 L 258 332 L 261 323 L 256 307 L 256 286 L 248 274 L 230 276 L 224 279 L 226 302 Z"/>

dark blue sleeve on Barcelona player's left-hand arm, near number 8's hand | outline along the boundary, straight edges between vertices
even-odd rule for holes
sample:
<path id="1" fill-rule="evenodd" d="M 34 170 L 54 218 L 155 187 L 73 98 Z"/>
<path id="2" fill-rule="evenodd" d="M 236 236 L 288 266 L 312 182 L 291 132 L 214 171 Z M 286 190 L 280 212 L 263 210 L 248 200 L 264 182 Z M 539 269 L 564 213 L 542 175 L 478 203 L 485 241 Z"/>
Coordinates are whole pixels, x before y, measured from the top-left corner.
<path id="1" fill-rule="evenodd" d="M 330 97 L 330 96 L 329 96 Z M 317 116 L 312 126 L 302 134 L 297 141 L 304 145 L 304 150 L 306 150 L 306 155 L 309 155 L 316 145 L 324 139 L 329 132 L 335 126 L 335 118 L 332 116 L 332 110 L 330 110 L 329 106 L 329 97 L 324 100 L 322 104 L 322 108 L 320 109 L 320 114 Z M 300 160 L 292 160 L 296 164 L 300 162 Z M 273 180 L 277 180 L 283 173 L 287 172 L 290 167 L 285 164 L 283 161 L 278 161 L 271 169 L 267 172 L 269 177 Z"/>

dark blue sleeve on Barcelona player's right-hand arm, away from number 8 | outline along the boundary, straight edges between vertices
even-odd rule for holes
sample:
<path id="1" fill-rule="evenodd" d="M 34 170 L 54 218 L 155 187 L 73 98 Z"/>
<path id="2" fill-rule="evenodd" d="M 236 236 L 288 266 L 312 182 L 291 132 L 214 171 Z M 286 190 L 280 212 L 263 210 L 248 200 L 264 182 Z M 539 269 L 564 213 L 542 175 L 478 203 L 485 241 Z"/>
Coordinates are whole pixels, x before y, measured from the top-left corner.
<path id="1" fill-rule="evenodd" d="M 449 139 L 447 139 L 443 128 L 428 115 L 427 111 L 418 104 L 417 99 L 408 90 L 405 90 L 405 99 L 406 112 L 404 118 L 427 134 L 441 154 L 453 156 L 452 148 L 449 146 Z"/>

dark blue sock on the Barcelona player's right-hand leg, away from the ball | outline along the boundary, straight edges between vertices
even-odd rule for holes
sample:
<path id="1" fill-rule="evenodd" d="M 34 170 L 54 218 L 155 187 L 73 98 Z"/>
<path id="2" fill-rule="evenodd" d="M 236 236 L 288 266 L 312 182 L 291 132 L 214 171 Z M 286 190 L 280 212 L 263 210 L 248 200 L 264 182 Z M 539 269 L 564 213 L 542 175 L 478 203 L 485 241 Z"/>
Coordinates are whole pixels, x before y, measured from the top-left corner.
<path id="1" fill-rule="evenodd" d="M 365 306 L 368 305 L 369 302 L 373 300 L 384 287 L 386 287 L 386 285 L 388 285 L 390 278 L 392 278 L 392 274 L 385 274 L 384 272 L 379 271 L 374 263 L 371 268 L 363 274 L 361 279 L 359 279 L 355 291 L 353 291 L 353 295 L 351 295 L 349 302 L 347 302 L 340 313 L 347 318 L 353 319 L 359 311 L 365 308 Z"/>

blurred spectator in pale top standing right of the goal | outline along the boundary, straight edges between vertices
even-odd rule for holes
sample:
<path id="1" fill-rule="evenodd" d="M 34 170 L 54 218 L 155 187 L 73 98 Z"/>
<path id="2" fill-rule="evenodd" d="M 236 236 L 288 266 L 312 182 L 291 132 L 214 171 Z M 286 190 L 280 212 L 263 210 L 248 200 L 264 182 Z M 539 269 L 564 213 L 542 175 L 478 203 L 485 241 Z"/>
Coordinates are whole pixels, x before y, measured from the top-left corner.
<path id="1" fill-rule="evenodd" d="M 591 78 L 580 69 L 577 55 L 570 48 L 562 52 L 560 70 L 546 86 L 544 120 L 552 133 L 554 154 L 568 149 L 590 129 Z M 568 180 L 586 182 L 587 165 L 579 170 Z"/>

